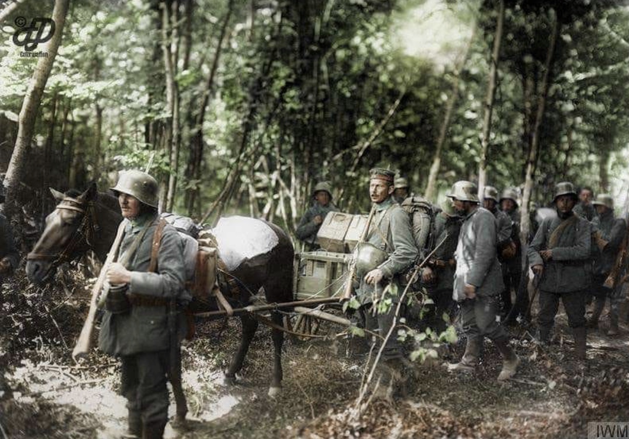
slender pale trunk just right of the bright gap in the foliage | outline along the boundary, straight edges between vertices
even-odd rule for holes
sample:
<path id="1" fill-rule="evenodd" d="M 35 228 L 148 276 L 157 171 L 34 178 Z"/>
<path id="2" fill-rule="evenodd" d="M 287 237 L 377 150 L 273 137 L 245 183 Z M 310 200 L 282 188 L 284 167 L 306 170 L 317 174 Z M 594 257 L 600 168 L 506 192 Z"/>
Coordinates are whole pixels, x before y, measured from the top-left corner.
<path id="1" fill-rule="evenodd" d="M 489 138 L 491 137 L 491 114 L 494 109 L 494 97 L 496 95 L 496 79 L 498 76 L 498 62 L 500 60 L 500 45 L 503 40 L 504 24 L 504 0 L 498 5 L 498 21 L 494 34 L 494 48 L 491 53 L 491 66 L 489 67 L 489 85 L 485 99 L 485 115 L 482 121 L 481 135 L 481 162 L 478 166 L 478 191 L 482 200 L 482 193 L 487 183 L 487 152 L 489 151 Z"/>

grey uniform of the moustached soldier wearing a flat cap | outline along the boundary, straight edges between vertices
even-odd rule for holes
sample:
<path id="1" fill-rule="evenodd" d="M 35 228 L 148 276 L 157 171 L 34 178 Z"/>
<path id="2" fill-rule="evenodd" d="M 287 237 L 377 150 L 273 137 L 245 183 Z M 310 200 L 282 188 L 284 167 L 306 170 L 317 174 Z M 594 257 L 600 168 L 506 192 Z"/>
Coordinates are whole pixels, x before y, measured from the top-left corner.
<path id="1" fill-rule="evenodd" d="M 389 254 L 386 261 L 377 267 L 384 273 L 384 279 L 375 288 L 365 282 L 364 276 L 360 278 L 360 286 L 356 291 L 357 297 L 362 306 L 369 308 L 374 299 L 381 297 L 386 285 L 393 283 L 400 286 L 401 274 L 415 262 L 417 257 L 408 214 L 399 207 L 398 203 L 394 202 L 392 197 L 376 204 L 376 213 L 372 219 L 367 242 Z M 401 293 L 401 289 L 398 288 L 398 295 L 392 296 L 393 303 L 398 303 Z M 377 315 L 367 311 L 364 313 L 365 326 L 371 330 L 380 328 L 381 335 L 384 337 L 391 328 L 395 311 L 396 306 L 391 306 L 388 313 L 377 313 Z M 401 357 L 402 352 L 397 337 L 389 337 L 382 354 L 384 359 Z"/>

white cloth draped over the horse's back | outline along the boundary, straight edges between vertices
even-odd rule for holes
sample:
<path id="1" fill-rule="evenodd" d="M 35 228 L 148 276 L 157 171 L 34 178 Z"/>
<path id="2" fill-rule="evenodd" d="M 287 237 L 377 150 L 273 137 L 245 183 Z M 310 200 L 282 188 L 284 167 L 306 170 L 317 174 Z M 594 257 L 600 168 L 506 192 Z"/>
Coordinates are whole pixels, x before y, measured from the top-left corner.
<path id="1" fill-rule="evenodd" d="M 279 243 L 276 232 L 255 218 L 221 218 L 210 231 L 218 243 L 219 257 L 229 271 L 238 268 L 246 259 L 270 252 Z"/>

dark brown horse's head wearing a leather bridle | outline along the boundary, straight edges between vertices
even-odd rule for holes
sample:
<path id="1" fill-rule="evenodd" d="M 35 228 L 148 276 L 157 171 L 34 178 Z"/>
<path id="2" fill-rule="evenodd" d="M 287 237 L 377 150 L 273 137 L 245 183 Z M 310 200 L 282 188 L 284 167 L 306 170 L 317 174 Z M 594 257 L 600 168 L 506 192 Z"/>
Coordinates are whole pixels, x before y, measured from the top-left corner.
<path id="1" fill-rule="evenodd" d="M 97 221 L 100 208 L 96 183 L 83 193 L 64 194 L 52 188 L 50 192 L 58 201 L 57 207 L 46 217 L 42 236 L 26 258 L 26 274 L 35 285 L 52 278 L 59 264 L 74 261 L 88 249 L 95 249 L 103 234 L 103 227 Z M 120 213 L 117 215 L 120 217 Z M 118 222 L 114 222 L 114 230 Z"/>

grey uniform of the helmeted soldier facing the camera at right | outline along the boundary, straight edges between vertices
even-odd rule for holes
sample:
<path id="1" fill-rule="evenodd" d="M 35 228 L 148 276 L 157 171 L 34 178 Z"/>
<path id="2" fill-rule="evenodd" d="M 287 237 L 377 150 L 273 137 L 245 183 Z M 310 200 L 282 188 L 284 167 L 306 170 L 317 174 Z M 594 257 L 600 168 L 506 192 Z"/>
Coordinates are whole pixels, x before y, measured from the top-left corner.
<path id="1" fill-rule="evenodd" d="M 552 259 L 543 261 L 542 250 L 552 250 Z M 543 341 L 550 337 L 559 298 L 564 303 L 569 326 L 573 329 L 584 327 L 584 288 L 590 283 L 590 251 L 590 224 L 574 212 L 565 219 L 545 218 L 537 229 L 528 247 L 528 260 L 531 266 L 543 265 L 538 314 Z"/>

